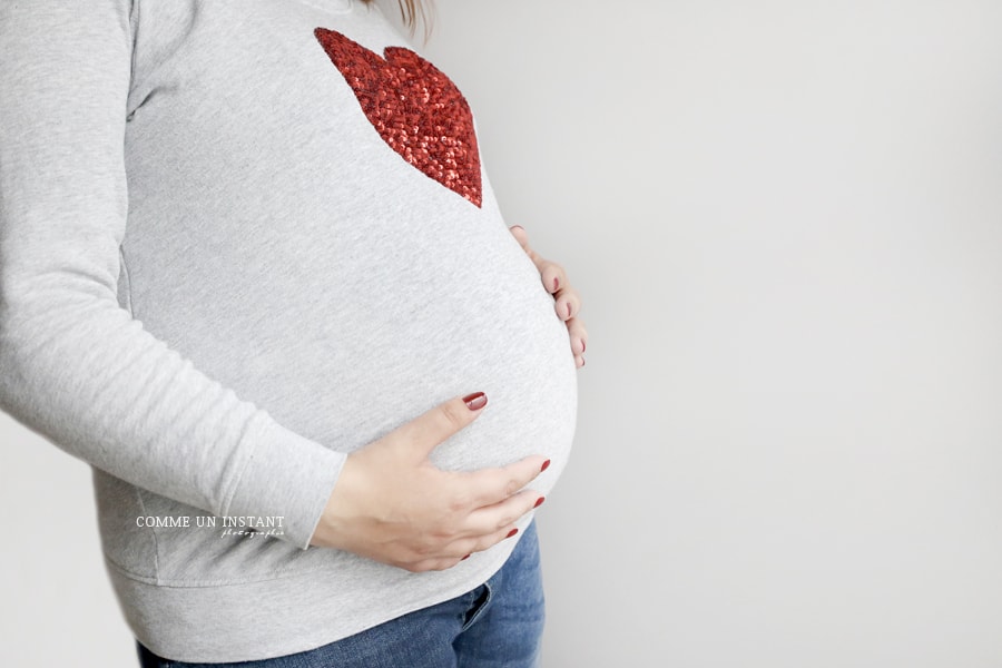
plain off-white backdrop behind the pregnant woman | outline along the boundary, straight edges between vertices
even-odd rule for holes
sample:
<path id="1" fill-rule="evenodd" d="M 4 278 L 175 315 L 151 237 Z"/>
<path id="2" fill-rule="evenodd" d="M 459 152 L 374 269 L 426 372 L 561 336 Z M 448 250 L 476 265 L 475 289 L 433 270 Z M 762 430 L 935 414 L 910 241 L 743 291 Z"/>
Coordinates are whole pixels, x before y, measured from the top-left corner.
<path id="1" fill-rule="evenodd" d="M 438 10 L 586 298 L 543 666 L 1002 667 L 1002 4 Z M 0 440 L 0 666 L 135 666 L 89 469 Z"/>

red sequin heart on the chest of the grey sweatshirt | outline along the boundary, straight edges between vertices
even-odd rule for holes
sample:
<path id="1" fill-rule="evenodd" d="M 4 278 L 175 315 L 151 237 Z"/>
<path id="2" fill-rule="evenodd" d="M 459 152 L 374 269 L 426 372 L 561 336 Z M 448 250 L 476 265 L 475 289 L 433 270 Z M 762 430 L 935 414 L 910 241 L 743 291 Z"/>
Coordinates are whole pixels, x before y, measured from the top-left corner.
<path id="1" fill-rule="evenodd" d="M 334 30 L 314 35 L 390 148 L 480 207 L 473 115 L 455 84 L 410 49 L 386 47 L 381 58 Z"/>

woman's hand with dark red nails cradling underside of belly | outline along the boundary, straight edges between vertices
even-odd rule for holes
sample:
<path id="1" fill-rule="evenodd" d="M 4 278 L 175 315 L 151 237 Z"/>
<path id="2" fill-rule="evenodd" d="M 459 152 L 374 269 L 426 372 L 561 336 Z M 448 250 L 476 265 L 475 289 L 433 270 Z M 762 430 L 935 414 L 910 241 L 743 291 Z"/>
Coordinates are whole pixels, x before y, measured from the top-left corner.
<path id="1" fill-rule="evenodd" d="M 499 469 L 442 471 L 429 461 L 487 405 L 478 392 L 440 404 L 351 453 L 311 544 L 409 571 L 444 570 L 515 534 L 542 503 L 523 489 L 549 465 L 540 455 Z"/>

